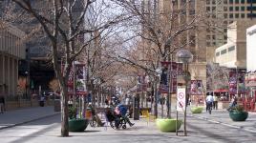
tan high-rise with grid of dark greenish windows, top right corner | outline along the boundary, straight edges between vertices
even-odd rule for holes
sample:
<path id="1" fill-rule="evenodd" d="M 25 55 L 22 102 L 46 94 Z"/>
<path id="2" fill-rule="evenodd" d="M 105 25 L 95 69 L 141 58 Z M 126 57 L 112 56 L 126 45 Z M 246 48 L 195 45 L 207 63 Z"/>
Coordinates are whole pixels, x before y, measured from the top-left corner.
<path id="1" fill-rule="evenodd" d="M 227 25 L 256 18 L 256 0 L 206 0 L 204 5 L 207 18 L 219 25 L 213 28 L 214 31 L 206 31 L 207 47 L 220 47 L 226 43 Z"/>

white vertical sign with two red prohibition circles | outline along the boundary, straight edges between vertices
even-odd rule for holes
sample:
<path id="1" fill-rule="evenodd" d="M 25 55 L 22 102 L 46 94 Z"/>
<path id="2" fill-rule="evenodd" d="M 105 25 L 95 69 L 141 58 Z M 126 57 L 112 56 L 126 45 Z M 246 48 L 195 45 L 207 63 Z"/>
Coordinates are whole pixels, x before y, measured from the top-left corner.
<path id="1" fill-rule="evenodd" d="M 177 111 L 185 110 L 185 87 L 178 87 L 177 89 Z"/>

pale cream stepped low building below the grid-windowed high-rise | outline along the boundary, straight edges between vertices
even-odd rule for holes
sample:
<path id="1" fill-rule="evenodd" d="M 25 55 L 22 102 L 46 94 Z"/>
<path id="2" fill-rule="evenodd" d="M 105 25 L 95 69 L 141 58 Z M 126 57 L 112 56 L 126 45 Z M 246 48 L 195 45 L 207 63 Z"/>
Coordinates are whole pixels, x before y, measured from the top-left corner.
<path id="1" fill-rule="evenodd" d="M 215 50 L 215 62 L 227 68 L 246 69 L 246 29 L 255 23 L 235 21 L 227 30 L 226 44 Z"/>

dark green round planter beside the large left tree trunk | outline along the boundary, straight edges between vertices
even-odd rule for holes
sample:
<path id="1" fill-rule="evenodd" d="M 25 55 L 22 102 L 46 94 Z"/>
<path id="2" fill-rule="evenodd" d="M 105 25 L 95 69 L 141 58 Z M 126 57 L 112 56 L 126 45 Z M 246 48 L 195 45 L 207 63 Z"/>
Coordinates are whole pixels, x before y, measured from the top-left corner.
<path id="1" fill-rule="evenodd" d="M 89 124 L 88 119 L 70 119 L 69 120 L 69 131 L 70 132 L 84 132 Z"/>

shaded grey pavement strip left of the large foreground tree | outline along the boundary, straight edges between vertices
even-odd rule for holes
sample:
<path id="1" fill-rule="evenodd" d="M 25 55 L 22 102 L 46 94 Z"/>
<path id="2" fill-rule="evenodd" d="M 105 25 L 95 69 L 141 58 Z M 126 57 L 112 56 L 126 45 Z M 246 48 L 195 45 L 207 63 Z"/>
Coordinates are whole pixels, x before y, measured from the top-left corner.
<path id="1" fill-rule="evenodd" d="M 53 106 L 32 107 L 0 113 L 0 130 L 53 116 L 58 113 L 60 112 L 53 111 Z"/>

